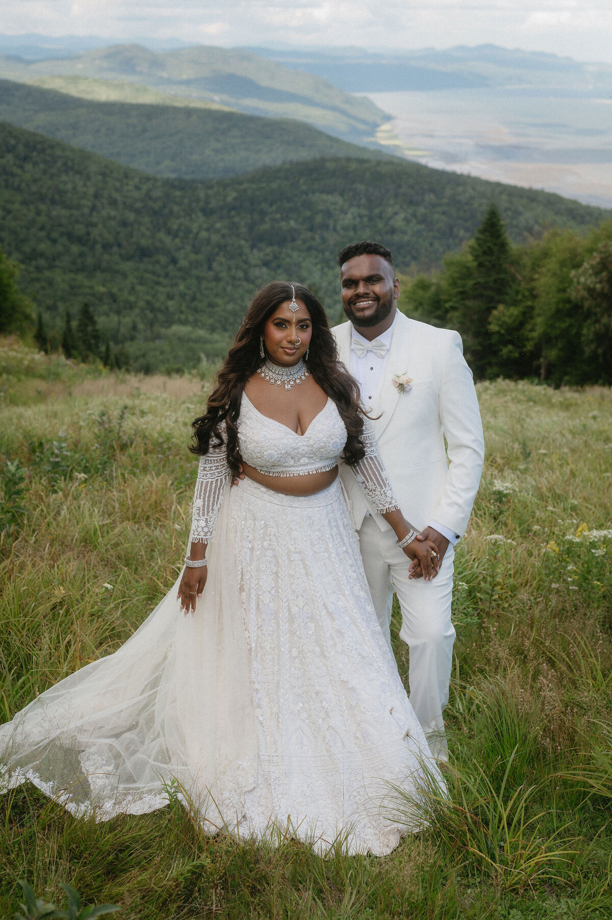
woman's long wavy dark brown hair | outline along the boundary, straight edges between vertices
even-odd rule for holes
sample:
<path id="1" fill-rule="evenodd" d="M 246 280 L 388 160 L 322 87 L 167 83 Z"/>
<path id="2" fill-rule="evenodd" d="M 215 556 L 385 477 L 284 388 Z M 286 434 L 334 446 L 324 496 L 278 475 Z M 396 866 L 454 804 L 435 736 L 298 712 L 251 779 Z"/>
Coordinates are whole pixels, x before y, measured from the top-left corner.
<path id="1" fill-rule="evenodd" d="M 359 406 L 359 387 L 338 360 L 328 317 L 318 298 L 303 284 L 294 284 L 294 288 L 295 296 L 306 305 L 312 320 L 308 370 L 325 395 L 338 407 L 347 431 L 344 459 L 349 466 L 354 466 L 365 453 L 362 442 L 364 414 Z M 225 421 L 227 463 L 233 473 L 238 472 L 238 464 L 242 462 L 237 431 L 242 394 L 248 378 L 260 369 L 265 360 L 260 356 L 260 336 L 271 314 L 292 296 L 288 282 L 270 282 L 256 294 L 217 374 L 206 411 L 191 425 L 191 452 L 207 454 L 210 446 L 223 443 L 221 425 Z"/>

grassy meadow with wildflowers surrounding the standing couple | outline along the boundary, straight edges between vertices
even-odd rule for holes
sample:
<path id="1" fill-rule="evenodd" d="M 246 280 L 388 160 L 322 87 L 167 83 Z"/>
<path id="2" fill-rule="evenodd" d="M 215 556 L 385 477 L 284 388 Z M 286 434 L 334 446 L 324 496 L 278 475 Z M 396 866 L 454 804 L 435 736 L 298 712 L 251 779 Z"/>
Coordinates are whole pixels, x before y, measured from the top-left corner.
<path id="1" fill-rule="evenodd" d="M 208 385 L 0 347 L 0 721 L 117 649 L 175 580 Z M 612 914 L 612 392 L 499 381 L 479 400 L 450 799 L 426 802 L 429 827 L 389 857 L 321 859 L 282 831 L 204 837 L 177 802 L 75 821 L 25 786 L 0 798 L 1 915 L 19 879 L 58 907 L 67 882 L 125 920 Z"/>

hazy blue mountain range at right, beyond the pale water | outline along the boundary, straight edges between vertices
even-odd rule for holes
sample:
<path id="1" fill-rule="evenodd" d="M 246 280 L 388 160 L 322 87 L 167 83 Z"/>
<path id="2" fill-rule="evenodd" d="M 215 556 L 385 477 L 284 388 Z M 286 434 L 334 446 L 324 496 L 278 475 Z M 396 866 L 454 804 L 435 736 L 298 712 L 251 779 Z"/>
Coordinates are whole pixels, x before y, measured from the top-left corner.
<path id="1" fill-rule="evenodd" d="M 382 54 L 363 48 L 301 51 L 250 48 L 285 67 L 316 74 L 349 93 L 514 86 L 612 93 L 612 64 L 581 63 L 498 45 Z"/>

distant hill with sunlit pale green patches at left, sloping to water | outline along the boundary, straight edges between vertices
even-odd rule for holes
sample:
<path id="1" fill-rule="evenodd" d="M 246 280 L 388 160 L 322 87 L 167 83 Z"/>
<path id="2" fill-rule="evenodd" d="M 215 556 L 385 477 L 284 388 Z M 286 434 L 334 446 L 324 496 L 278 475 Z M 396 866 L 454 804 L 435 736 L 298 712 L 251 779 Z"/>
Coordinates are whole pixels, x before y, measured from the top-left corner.
<path id="1" fill-rule="evenodd" d="M 140 45 L 116 45 L 64 60 L 36 62 L 0 56 L 0 77 L 30 81 L 40 76 L 141 84 L 176 96 L 209 99 L 249 115 L 307 121 L 357 142 L 372 139 L 376 128 L 388 120 L 369 99 L 344 93 L 318 75 L 224 48 L 198 46 L 162 53 Z"/>

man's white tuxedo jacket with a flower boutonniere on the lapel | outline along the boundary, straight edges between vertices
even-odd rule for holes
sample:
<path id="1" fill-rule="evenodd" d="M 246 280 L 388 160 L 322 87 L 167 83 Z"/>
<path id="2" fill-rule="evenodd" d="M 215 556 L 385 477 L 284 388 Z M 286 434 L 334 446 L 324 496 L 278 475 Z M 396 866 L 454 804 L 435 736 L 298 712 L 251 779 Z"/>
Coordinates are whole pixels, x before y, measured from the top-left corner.
<path id="1" fill-rule="evenodd" d="M 341 362 L 351 373 L 351 323 L 332 332 Z M 391 383 L 395 374 L 412 378 L 408 392 L 400 393 Z M 484 440 L 472 372 L 458 332 L 428 326 L 398 311 L 385 372 L 367 408 L 407 520 L 419 529 L 437 521 L 463 535 L 479 488 Z M 386 530 L 389 525 L 375 512 L 350 466 L 341 465 L 341 478 L 357 530 L 368 511 Z"/>

